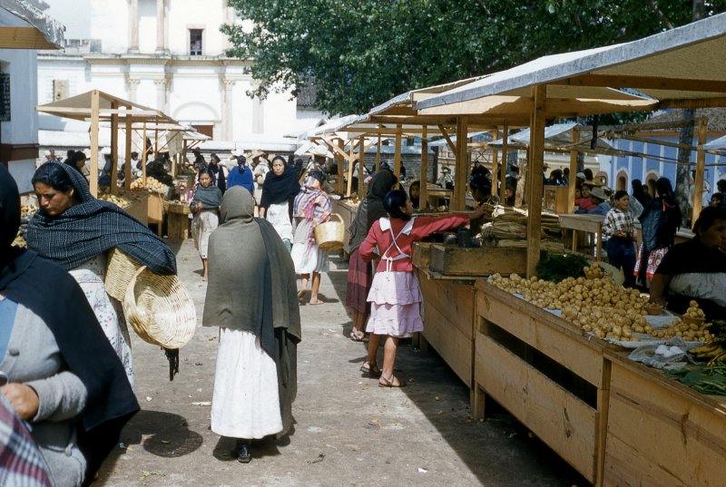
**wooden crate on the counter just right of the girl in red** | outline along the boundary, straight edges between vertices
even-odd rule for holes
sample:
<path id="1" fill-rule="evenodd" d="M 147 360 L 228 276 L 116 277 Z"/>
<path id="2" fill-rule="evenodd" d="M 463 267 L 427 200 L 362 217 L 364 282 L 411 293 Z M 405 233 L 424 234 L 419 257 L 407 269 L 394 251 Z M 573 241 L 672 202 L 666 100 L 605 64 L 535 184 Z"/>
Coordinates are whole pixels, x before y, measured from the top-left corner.
<path id="1" fill-rule="evenodd" d="M 430 259 L 431 270 L 445 276 L 526 274 L 526 248 L 460 248 L 434 244 L 430 249 Z"/>

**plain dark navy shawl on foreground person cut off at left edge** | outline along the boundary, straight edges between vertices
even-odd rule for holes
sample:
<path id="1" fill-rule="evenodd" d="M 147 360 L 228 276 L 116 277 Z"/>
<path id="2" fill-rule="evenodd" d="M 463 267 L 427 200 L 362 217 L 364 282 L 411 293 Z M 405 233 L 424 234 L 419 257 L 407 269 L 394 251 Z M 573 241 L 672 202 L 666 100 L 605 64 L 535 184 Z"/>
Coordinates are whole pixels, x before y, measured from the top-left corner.
<path id="1" fill-rule="evenodd" d="M 65 365 L 83 382 L 88 395 L 79 416 L 78 445 L 93 475 L 139 404 L 123 365 L 74 278 L 33 250 L 10 247 L 9 236 L 15 238 L 20 225 L 18 200 L 15 180 L 0 165 L 0 294 L 43 319 Z"/>

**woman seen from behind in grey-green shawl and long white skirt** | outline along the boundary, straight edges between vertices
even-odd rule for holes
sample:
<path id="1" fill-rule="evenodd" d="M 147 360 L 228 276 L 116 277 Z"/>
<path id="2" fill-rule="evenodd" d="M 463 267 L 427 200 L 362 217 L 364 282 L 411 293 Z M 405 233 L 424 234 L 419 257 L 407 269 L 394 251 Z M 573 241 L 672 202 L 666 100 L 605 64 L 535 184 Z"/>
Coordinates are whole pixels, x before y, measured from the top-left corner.
<path id="1" fill-rule="evenodd" d="M 253 218 L 254 206 L 243 187 L 224 193 L 202 322 L 220 327 L 211 430 L 237 439 L 240 463 L 250 462 L 251 439 L 289 432 L 298 390 L 295 268 L 270 222 Z"/>

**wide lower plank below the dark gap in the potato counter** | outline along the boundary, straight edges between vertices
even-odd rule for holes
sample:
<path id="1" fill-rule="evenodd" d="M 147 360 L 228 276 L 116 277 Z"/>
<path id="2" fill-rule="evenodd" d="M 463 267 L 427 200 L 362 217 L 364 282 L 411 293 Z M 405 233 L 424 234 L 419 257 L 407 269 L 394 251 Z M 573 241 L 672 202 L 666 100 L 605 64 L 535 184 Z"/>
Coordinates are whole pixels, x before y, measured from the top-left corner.
<path id="1" fill-rule="evenodd" d="M 597 411 L 483 334 L 475 383 L 589 482 L 595 482 Z"/>

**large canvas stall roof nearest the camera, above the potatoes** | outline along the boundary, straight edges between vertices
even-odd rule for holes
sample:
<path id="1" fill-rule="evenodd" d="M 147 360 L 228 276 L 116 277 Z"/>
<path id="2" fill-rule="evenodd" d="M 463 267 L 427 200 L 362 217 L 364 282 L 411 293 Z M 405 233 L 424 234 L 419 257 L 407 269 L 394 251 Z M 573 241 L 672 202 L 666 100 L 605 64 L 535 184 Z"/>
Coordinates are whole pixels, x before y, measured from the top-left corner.
<path id="1" fill-rule="evenodd" d="M 724 53 L 726 14 L 713 15 L 631 43 L 544 56 L 416 102 L 415 108 L 436 113 L 448 105 L 446 113 L 481 113 L 492 110 L 496 100 L 479 106 L 471 102 L 542 84 L 632 88 L 659 101 L 658 108 L 722 106 Z"/>

